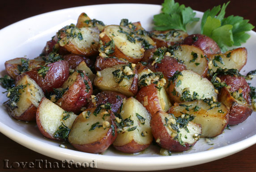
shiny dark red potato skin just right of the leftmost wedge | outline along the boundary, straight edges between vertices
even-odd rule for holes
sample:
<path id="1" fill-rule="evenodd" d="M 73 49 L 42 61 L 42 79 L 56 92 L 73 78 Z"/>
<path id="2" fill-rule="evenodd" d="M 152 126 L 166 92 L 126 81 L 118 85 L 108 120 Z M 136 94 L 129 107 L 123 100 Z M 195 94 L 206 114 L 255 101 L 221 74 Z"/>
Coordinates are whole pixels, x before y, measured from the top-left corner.
<path id="1" fill-rule="evenodd" d="M 37 69 L 40 68 L 38 67 L 17 76 L 16 82 L 24 75 L 28 75 L 31 79 L 35 80 L 35 82 L 43 89 L 44 93 L 53 91 L 53 88 L 60 88 L 69 76 L 68 62 L 65 60 L 60 60 L 48 64 L 47 67 L 50 68 L 44 78 L 38 75 Z"/>

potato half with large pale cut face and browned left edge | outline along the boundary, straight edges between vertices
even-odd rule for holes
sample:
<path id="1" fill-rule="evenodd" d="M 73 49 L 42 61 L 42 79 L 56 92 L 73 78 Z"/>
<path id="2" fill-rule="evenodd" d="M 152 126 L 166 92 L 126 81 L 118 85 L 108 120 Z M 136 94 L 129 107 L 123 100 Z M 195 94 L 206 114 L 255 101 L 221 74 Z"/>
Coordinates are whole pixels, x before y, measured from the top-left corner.
<path id="1" fill-rule="evenodd" d="M 167 84 L 167 92 L 172 103 L 212 97 L 217 99 L 213 84 L 196 72 L 189 70 L 176 72 Z"/>

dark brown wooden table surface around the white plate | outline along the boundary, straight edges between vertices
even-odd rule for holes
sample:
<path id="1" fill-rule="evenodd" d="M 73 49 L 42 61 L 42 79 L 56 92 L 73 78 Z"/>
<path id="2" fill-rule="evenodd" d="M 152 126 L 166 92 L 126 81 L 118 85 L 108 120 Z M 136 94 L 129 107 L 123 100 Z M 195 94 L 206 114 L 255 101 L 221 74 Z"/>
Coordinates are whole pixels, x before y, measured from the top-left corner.
<path id="1" fill-rule="evenodd" d="M 223 4 L 227 0 L 176 0 L 180 4 L 190 6 L 194 10 L 205 11 L 218 4 Z M 32 17 L 37 14 L 46 13 L 63 8 L 70 8 L 91 4 L 109 4 L 109 3 L 143 3 L 143 4 L 161 4 L 162 0 L 1 0 L 0 2 L 0 29 L 14 22 L 20 21 L 27 17 Z M 256 0 L 231 0 L 231 3 L 226 9 L 226 15 L 239 15 L 245 19 L 249 19 L 252 25 L 256 25 Z M 256 29 L 254 29 L 256 31 Z M 6 40 L 2 40 L 6 41 Z M 14 49 L 15 50 L 15 49 Z M 9 159 L 9 162 L 31 162 L 34 159 L 46 159 L 48 162 L 57 160 L 41 155 L 37 152 L 15 143 L 0 133 L 0 172 L 43 172 L 45 169 L 29 169 L 4 168 L 4 159 Z M 107 172 L 109 170 L 102 169 L 62 169 L 64 171 L 72 170 L 92 171 L 92 172 Z M 125 170 L 125 169 L 124 169 Z M 56 171 L 56 169 L 47 169 L 47 171 Z M 57 170 L 58 171 L 58 170 Z M 215 160 L 210 163 L 196 165 L 187 168 L 178 168 L 165 170 L 166 172 L 256 172 L 256 144 L 234 155 L 226 158 Z M 164 172 L 164 171 L 162 171 Z"/>

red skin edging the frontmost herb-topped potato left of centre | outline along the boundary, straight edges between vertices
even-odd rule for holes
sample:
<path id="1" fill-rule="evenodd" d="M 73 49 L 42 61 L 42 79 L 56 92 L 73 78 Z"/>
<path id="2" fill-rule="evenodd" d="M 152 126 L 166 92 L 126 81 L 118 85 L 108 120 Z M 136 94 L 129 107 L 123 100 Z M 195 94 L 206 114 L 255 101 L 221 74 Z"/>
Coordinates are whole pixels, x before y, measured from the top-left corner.
<path id="1" fill-rule="evenodd" d="M 95 108 L 93 110 L 91 109 L 87 109 L 90 110 L 91 112 L 93 112 L 95 110 Z M 82 115 L 82 114 L 80 114 Z M 117 130 L 116 130 L 116 124 L 115 124 L 115 115 L 113 112 L 111 112 L 110 114 L 111 117 L 111 125 L 115 126 L 115 134 L 114 136 L 112 135 L 112 128 L 110 128 L 107 132 L 107 134 L 101 138 L 100 140 L 94 142 L 94 143 L 88 143 L 88 144 L 83 144 L 83 145 L 79 145 L 79 144 L 72 144 L 73 147 L 75 147 L 78 151 L 83 151 L 83 152 L 88 152 L 88 153 L 94 153 L 94 154 L 98 154 L 98 153 L 102 153 L 104 151 L 107 150 L 107 148 L 115 141 L 115 138 L 117 137 Z M 76 122 L 78 118 L 75 119 L 74 123 Z"/>

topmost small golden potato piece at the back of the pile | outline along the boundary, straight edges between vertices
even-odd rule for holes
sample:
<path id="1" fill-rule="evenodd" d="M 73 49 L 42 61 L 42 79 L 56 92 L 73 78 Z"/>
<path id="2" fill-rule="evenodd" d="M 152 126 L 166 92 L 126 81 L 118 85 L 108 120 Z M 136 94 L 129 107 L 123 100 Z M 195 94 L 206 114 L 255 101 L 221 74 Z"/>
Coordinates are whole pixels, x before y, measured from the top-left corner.
<path id="1" fill-rule="evenodd" d="M 90 17 L 87 16 L 87 14 L 81 13 L 77 19 L 77 28 L 92 26 L 96 26 L 100 31 L 102 31 L 105 27 L 102 21 L 98 21 L 96 19 L 91 20 Z"/>

